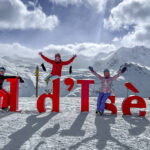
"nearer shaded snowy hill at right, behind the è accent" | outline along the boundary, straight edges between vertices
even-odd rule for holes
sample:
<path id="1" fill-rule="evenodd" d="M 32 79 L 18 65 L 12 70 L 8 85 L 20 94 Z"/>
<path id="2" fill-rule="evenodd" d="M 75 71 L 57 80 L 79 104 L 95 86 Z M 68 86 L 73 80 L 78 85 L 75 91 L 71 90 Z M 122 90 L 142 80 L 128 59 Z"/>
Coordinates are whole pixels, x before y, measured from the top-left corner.
<path id="1" fill-rule="evenodd" d="M 135 63 L 127 64 L 127 72 L 114 82 L 114 91 L 117 96 L 126 96 L 125 82 L 131 82 L 139 91 L 142 97 L 150 96 L 150 68 Z M 132 92 L 130 92 L 133 94 Z"/>

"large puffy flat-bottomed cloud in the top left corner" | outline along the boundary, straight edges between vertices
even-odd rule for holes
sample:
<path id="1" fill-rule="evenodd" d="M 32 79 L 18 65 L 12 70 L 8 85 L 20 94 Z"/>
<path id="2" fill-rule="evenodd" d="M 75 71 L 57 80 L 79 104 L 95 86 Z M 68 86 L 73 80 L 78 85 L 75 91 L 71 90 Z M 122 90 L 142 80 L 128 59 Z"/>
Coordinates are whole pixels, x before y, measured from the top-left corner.
<path id="1" fill-rule="evenodd" d="M 46 16 L 40 7 L 29 11 L 21 0 L 0 0 L 0 29 L 53 30 L 58 24 L 57 16 Z"/>

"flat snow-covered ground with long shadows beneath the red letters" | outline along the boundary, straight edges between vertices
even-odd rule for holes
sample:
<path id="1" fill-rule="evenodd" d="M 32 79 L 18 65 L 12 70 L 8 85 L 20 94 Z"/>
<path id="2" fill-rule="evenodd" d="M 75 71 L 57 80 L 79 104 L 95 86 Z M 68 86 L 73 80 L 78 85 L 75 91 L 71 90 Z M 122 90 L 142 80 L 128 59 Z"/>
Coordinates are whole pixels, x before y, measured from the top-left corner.
<path id="1" fill-rule="evenodd" d="M 39 114 L 34 97 L 19 98 L 22 113 L 0 112 L 0 149 L 3 150 L 149 150 L 150 101 L 146 117 L 122 116 L 123 98 L 116 98 L 118 115 L 97 116 L 96 97 L 90 97 L 90 111 L 80 112 L 80 97 L 61 97 L 60 113 Z"/>

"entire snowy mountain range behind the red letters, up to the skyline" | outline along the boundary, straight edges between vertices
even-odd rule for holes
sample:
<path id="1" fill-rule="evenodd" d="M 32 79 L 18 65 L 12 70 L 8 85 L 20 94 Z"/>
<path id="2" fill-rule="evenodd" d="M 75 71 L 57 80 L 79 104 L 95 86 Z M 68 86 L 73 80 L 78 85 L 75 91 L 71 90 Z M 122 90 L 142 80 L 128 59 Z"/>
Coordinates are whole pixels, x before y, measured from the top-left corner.
<path id="1" fill-rule="evenodd" d="M 130 53 L 130 55 L 129 55 Z M 132 55 L 133 53 L 133 55 Z M 150 69 L 149 69 L 149 49 L 144 47 L 135 47 L 133 49 L 121 48 L 118 51 L 111 52 L 110 55 L 106 55 L 105 53 L 99 54 L 97 57 L 93 59 L 89 57 L 84 57 L 83 55 L 79 55 L 73 65 L 73 74 L 70 76 L 69 66 L 63 68 L 62 78 L 61 78 L 61 96 L 80 96 L 81 95 L 81 86 L 75 84 L 73 90 L 71 92 L 67 91 L 67 87 L 63 84 L 64 79 L 67 77 L 71 77 L 75 80 L 78 79 L 94 79 L 95 85 L 90 86 L 90 96 L 97 96 L 97 92 L 100 88 L 100 81 L 92 75 L 87 67 L 92 65 L 92 62 L 99 62 L 96 64 L 94 69 L 103 75 L 102 69 L 99 68 L 109 68 L 111 70 L 111 74 L 115 74 L 120 65 L 126 64 L 128 66 L 128 71 L 121 76 L 117 81 L 113 83 L 113 89 L 115 91 L 116 96 L 126 96 L 126 88 L 124 86 L 125 82 L 131 82 L 137 89 L 140 91 L 140 95 L 144 97 L 150 96 Z M 144 55 L 145 54 L 145 55 Z M 100 57 L 103 56 L 103 57 Z M 130 57 L 129 57 L 130 56 Z M 135 56 L 137 59 L 135 59 Z M 64 60 L 67 60 L 70 55 L 67 55 L 66 58 L 63 57 Z M 100 57 L 100 59 L 99 59 Z M 116 58 L 116 63 L 112 63 L 112 67 L 108 64 L 109 61 L 114 61 Z M 145 59 L 144 59 L 145 58 Z M 129 60 L 129 61 L 128 61 Z M 133 63 L 135 61 L 135 63 Z M 6 74 L 11 75 L 20 75 L 24 78 L 25 83 L 20 84 L 20 96 L 33 96 L 35 95 L 35 68 L 36 65 L 40 65 L 42 59 L 38 58 L 22 58 L 22 57 L 9 57 L 2 56 L 0 57 L 0 65 L 5 66 L 7 68 Z M 125 63 L 124 63 L 125 62 Z M 137 63 L 138 62 L 138 63 Z M 142 65 L 140 65 L 142 64 Z M 146 66 L 147 65 L 147 66 Z M 39 94 L 43 93 L 45 89 L 44 78 L 51 71 L 51 65 L 45 63 L 47 68 L 47 72 L 43 72 L 40 67 L 40 77 L 39 77 Z M 8 84 L 5 82 L 5 87 L 8 90 Z"/>

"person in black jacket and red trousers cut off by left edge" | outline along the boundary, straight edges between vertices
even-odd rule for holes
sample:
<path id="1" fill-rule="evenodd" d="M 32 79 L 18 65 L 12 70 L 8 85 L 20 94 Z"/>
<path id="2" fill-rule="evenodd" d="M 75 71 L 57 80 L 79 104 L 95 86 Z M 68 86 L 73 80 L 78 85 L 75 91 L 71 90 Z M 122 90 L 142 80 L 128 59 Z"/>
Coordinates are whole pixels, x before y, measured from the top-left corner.
<path id="1" fill-rule="evenodd" d="M 20 82 L 24 82 L 23 79 L 19 76 L 5 76 L 6 72 L 6 69 L 4 67 L 0 67 L 0 90 L 6 94 L 6 95 L 9 95 L 9 93 L 3 89 L 3 83 L 4 83 L 4 80 L 5 79 L 8 79 L 8 78 L 18 78 L 20 79 Z M 7 110 L 8 109 L 8 106 L 9 106 L 9 100 L 8 101 L 2 101 L 2 109 L 3 110 Z"/>

